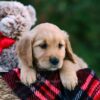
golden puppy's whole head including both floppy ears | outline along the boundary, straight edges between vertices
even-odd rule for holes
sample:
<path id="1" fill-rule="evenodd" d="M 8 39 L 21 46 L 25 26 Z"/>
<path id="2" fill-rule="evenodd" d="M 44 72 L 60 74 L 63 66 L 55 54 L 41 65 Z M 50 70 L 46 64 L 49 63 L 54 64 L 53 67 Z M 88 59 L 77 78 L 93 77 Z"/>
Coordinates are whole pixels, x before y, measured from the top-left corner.
<path id="1" fill-rule="evenodd" d="M 75 62 L 67 33 L 50 23 L 39 24 L 25 35 L 18 42 L 17 53 L 23 65 L 45 70 L 61 68 L 64 58 Z"/>

